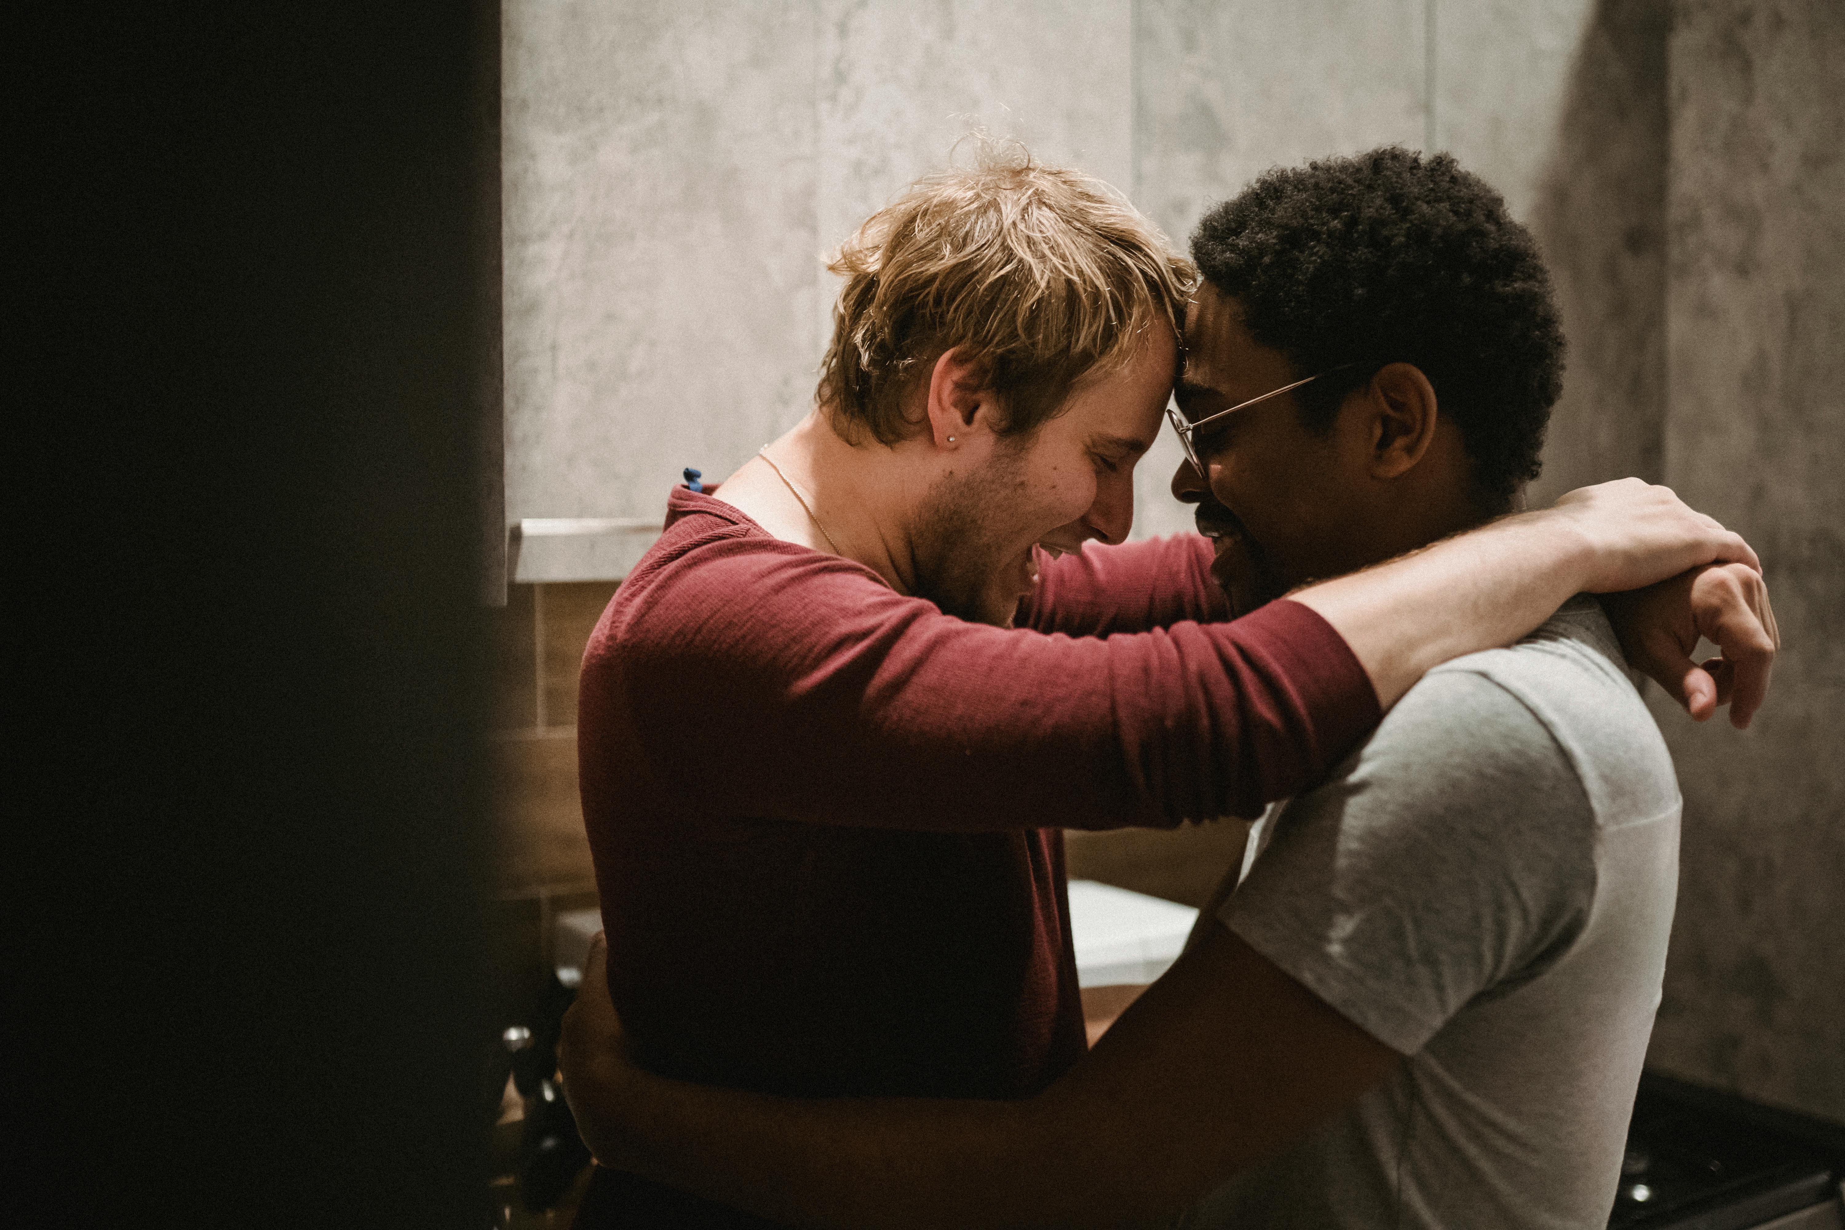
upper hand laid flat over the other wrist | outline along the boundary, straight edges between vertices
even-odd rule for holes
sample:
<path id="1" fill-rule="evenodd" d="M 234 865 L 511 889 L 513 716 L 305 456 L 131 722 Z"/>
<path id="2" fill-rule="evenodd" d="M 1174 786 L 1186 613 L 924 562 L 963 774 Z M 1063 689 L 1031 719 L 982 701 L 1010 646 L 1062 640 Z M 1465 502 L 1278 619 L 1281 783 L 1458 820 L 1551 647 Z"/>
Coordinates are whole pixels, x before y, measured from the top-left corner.
<path id="1" fill-rule="evenodd" d="M 1762 572 L 1762 561 L 1740 535 L 1684 507 L 1668 487 L 1637 478 L 1577 487 L 1541 516 L 1561 520 L 1587 542 L 1581 588 L 1590 594 L 1638 590 L 1699 564 L 1732 562 Z"/>

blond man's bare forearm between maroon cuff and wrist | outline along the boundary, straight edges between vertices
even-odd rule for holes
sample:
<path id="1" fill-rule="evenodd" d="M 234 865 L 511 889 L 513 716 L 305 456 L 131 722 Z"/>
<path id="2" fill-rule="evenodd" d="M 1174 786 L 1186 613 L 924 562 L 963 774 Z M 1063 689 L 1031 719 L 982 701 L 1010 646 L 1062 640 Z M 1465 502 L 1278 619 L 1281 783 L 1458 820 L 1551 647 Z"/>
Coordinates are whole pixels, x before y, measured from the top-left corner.
<path id="1" fill-rule="evenodd" d="M 1345 638 L 1389 708 L 1432 668 L 1535 629 L 1587 575 L 1579 535 L 1520 514 L 1290 597 Z"/>

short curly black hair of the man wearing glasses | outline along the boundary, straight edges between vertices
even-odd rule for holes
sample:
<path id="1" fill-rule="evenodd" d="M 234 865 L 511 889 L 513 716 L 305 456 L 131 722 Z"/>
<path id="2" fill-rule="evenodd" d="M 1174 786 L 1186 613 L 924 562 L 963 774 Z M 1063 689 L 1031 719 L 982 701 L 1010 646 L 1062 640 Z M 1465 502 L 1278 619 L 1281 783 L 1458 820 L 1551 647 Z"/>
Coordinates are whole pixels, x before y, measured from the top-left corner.
<path id="1" fill-rule="evenodd" d="M 1312 430 L 1384 363 L 1413 363 L 1461 428 L 1483 511 L 1537 478 L 1563 391 L 1550 275 L 1500 194 L 1450 155 L 1389 146 L 1275 168 L 1205 214 L 1192 260 L 1299 376 L 1354 365 L 1303 389 Z"/>

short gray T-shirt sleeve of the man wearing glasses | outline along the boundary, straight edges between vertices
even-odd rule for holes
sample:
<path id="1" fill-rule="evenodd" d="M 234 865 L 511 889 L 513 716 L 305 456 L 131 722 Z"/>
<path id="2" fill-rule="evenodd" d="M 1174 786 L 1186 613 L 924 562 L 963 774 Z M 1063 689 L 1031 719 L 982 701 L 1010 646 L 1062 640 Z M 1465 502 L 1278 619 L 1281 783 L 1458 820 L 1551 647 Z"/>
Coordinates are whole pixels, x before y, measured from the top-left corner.
<path id="1" fill-rule="evenodd" d="M 1539 974 L 1594 896 L 1594 811 L 1568 756 L 1465 669 L 1411 688 L 1275 824 L 1218 917 L 1402 1055 Z"/>

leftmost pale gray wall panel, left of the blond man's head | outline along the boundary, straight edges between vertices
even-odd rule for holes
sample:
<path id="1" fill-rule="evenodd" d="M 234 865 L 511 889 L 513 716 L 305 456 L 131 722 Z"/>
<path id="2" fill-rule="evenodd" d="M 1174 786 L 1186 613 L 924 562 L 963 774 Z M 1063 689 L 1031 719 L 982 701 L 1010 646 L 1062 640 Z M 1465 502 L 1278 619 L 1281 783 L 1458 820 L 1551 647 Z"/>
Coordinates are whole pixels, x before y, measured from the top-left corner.
<path id="1" fill-rule="evenodd" d="M 507 518 L 659 514 L 812 396 L 817 15 L 502 13 Z"/>

